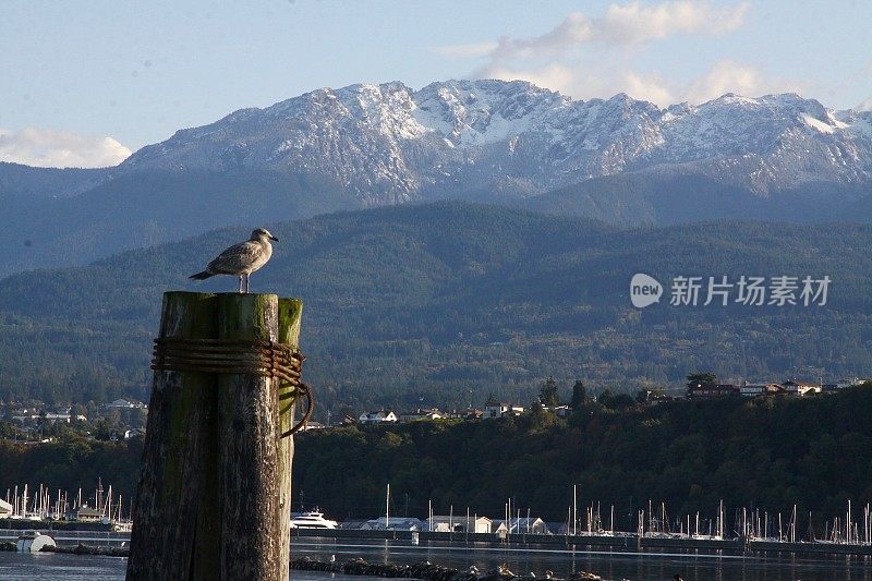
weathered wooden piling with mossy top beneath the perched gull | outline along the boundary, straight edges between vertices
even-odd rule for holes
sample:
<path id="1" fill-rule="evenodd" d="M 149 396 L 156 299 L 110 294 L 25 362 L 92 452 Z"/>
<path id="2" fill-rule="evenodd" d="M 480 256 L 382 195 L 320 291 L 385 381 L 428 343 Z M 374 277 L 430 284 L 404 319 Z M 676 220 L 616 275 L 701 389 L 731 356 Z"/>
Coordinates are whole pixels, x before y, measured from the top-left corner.
<path id="1" fill-rule="evenodd" d="M 298 394 L 269 370 L 287 372 L 301 311 L 275 294 L 165 294 L 129 580 L 288 579 L 280 436 Z"/>

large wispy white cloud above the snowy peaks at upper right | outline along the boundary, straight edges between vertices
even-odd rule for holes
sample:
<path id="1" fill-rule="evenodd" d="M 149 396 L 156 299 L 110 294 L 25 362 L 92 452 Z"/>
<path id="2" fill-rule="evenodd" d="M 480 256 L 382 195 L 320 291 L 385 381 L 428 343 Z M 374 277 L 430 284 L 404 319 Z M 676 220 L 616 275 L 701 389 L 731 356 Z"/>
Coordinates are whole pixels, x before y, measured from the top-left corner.
<path id="1" fill-rule="evenodd" d="M 666 75 L 640 72 L 641 52 L 627 50 L 677 35 L 734 32 L 742 26 L 749 8 L 748 2 L 716 5 L 704 0 L 613 3 L 598 16 L 572 12 L 540 36 L 502 37 L 489 45 L 489 51 L 483 43 L 443 47 L 443 53 L 486 57 L 472 75 L 477 78 L 523 80 L 581 99 L 627 93 L 664 107 L 681 100 L 699 104 L 724 93 L 799 92 L 796 83 L 767 78 L 754 66 L 727 58 L 692 80 L 679 80 L 668 71 Z"/>

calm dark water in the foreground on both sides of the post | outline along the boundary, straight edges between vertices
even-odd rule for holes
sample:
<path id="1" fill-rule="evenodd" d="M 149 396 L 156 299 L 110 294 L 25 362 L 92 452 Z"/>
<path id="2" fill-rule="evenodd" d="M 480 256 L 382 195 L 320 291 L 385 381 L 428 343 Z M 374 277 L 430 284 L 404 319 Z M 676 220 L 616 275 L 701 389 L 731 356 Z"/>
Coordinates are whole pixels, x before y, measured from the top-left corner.
<path id="1" fill-rule="evenodd" d="M 687 581 L 872 581 L 869 558 L 831 557 L 812 559 L 797 556 L 741 557 L 677 553 L 618 553 L 607 550 L 568 552 L 555 548 L 506 549 L 491 546 L 447 546 L 444 543 L 412 546 L 408 542 L 370 541 L 361 543 L 296 538 L 293 556 L 310 555 L 327 559 L 336 555 L 343 561 L 363 557 L 372 562 L 417 562 L 429 560 L 465 569 L 476 565 L 485 570 L 506 564 L 516 573 L 537 576 L 546 569 L 565 577 L 573 571 L 591 571 L 604 579 L 620 581 L 669 581 L 679 573 Z M 0 580 L 119 581 L 124 579 L 126 559 L 85 555 L 29 555 L 0 553 Z M 292 571 L 295 581 L 327 581 L 334 576 Z M 344 581 L 378 578 L 343 577 Z"/>

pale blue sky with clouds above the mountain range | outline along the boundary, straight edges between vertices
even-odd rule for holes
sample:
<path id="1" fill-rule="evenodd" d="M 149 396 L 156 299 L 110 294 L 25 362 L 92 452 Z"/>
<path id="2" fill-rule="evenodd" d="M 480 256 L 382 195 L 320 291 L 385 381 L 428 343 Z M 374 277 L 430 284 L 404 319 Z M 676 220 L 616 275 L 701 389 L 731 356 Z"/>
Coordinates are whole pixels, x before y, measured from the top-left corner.
<path id="1" fill-rule="evenodd" d="M 870 108 L 870 22 L 868 0 L 3 0 L 0 160 L 112 165 L 235 109 L 360 82 Z"/>

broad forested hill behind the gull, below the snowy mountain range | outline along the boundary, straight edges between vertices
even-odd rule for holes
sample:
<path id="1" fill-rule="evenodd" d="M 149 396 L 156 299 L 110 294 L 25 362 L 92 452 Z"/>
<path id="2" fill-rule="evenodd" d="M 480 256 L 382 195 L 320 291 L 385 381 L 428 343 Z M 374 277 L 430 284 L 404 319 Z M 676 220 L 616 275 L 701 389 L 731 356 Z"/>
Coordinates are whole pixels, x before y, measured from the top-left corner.
<path id="1" fill-rule="evenodd" d="M 618 230 L 584 218 L 450 202 L 271 225 L 253 292 L 301 296 L 316 419 L 365 407 L 531 402 L 553 375 L 592 391 L 864 376 L 872 370 L 872 227 L 717 222 Z M 247 229 L 0 280 L 0 399 L 148 398 L 161 293 Z M 633 274 L 833 280 L 826 306 L 645 310 Z"/>

